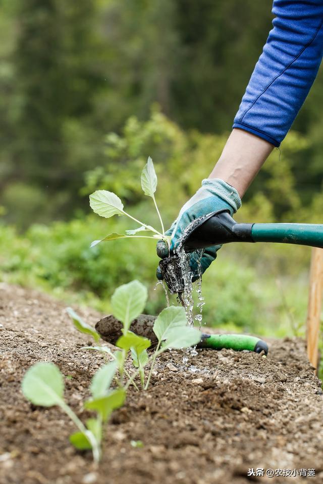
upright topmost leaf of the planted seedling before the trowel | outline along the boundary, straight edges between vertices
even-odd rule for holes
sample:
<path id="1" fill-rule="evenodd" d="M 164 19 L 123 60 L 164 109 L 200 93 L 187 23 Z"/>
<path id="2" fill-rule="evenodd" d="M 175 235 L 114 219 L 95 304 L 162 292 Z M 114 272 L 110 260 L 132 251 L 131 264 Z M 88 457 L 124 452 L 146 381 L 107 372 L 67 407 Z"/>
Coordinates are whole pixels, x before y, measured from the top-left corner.
<path id="1" fill-rule="evenodd" d="M 111 298 L 112 313 L 123 322 L 125 331 L 128 331 L 131 321 L 143 312 L 146 300 L 147 289 L 137 280 L 115 290 Z"/>

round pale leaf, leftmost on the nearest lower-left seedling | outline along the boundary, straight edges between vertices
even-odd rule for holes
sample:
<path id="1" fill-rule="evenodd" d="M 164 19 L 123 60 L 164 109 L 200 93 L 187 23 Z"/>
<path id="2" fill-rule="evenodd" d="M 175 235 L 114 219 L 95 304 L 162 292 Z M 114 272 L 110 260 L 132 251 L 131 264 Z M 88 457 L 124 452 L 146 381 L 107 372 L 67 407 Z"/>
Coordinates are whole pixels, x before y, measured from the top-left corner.
<path id="1" fill-rule="evenodd" d="M 64 398 L 64 379 L 51 362 L 39 362 L 26 372 L 22 381 L 24 396 L 34 405 L 60 405 Z"/>

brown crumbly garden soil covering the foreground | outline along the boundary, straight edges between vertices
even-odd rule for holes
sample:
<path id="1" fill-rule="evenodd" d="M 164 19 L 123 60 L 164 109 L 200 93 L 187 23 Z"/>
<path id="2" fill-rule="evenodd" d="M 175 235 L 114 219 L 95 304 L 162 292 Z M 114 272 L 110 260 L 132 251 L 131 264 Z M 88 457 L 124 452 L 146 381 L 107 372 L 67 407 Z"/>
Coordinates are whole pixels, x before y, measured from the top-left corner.
<path id="1" fill-rule="evenodd" d="M 0 285 L 1 484 L 243 484 L 249 467 L 316 469 L 315 477 L 256 482 L 323 482 L 323 395 L 299 339 L 272 342 L 267 358 L 201 350 L 190 361 L 195 372 L 182 369 L 180 352 L 166 354 L 150 389 L 131 389 L 114 413 L 95 470 L 91 454 L 69 444 L 68 417 L 20 391 L 30 365 L 52 360 L 67 377 L 66 400 L 86 417 L 82 399 L 103 357 L 80 349 L 88 337 L 64 309 L 39 292 Z M 80 313 L 91 324 L 101 317 Z"/>

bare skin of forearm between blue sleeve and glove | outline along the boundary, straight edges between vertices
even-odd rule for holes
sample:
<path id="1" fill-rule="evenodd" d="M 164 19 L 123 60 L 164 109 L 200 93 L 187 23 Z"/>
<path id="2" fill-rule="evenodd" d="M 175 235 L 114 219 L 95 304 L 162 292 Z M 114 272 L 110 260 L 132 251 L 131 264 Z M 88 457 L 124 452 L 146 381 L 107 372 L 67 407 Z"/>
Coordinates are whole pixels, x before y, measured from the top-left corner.
<path id="1" fill-rule="evenodd" d="M 247 131 L 234 129 L 209 178 L 221 178 L 243 197 L 274 145 Z"/>

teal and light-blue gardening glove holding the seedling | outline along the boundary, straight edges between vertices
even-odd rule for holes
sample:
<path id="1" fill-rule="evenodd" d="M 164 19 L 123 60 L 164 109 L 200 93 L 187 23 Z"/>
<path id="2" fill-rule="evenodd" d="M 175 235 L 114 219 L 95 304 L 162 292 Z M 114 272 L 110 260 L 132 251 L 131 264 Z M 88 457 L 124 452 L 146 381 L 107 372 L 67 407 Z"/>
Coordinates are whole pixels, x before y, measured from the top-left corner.
<path id="1" fill-rule="evenodd" d="M 182 207 L 177 219 L 171 226 L 171 228 L 166 232 L 166 235 L 171 235 L 171 254 L 174 249 L 178 247 L 179 241 L 183 236 L 185 228 L 189 225 L 192 220 L 199 218 L 201 216 L 206 216 L 209 213 L 217 212 L 219 210 L 229 210 L 230 214 L 233 215 L 241 207 L 241 200 L 238 192 L 231 185 L 227 184 L 226 181 L 220 178 L 206 178 L 202 181 L 201 188 L 196 192 L 193 197 L 186 202 Z M 209 267 L 211 262 L 213 262 L 217 257 L 217 251 L 222 246 L 212 246 L 204 249 L 202 258 L 200 260 L 200 271 L 203 272 Z M 168 247 L 165 241 L 158 240 L 157 242 L 157 256 L 160 259 L 168 257 Z M 190 267 L 192 271 L 192 281 L 196 281 L 199 277 L 199 261 L 194 256 L 194 253 L 190 256 Z M 156 271 L 157 279 L 163 279 L 161 275 L 159 266 Z"/>

